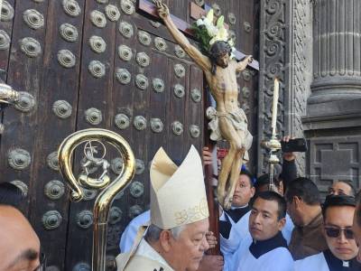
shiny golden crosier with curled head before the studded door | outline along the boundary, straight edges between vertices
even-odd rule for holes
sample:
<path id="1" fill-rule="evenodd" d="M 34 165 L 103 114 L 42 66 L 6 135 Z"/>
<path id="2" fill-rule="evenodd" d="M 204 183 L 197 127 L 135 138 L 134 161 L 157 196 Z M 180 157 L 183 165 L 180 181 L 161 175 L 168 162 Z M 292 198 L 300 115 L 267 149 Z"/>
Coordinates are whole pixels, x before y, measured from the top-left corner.
<path id="1" fill-rule="evenodd" d="M 90 189 L 97 189 L 101 187 L 97 183 L 94 187 L 94 182 L 80 183 L 72 173 L 71 158 L 75 148 L 88 141 L 103 141 L 116 147 L 116 150 L 123 156 L 123 170 L 116 177 L 114 182 L 111 182 L 106 188 L 97 196 L 94 203 L 94 229 L 93 229 L 93 256 L 92 256 L 92 270 L 104 271 L 106 270 L 106 229 L 107 220 L 109 216 L 109 209 L 116 194 L 125 189 L 125 187 L 132 182 L 135 172 L 135 158 L 132 149 L 125 141 L 125 139 L 115 132 L 90 128 L 80 130 L 69 135 L 61 143 L 58 152 L 60 173 L 63 178 L 69 183 L 71 189 L 71 200 L 81 201 L 84 198 L 84 192 L 81 185 Z"/>

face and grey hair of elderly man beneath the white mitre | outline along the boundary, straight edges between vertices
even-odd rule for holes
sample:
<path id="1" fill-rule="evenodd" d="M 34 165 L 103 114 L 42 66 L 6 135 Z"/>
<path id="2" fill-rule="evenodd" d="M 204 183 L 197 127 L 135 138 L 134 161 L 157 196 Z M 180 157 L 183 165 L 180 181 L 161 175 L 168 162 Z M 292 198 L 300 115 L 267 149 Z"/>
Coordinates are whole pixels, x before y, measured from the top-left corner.
<path id="1" fill-rule="evenodd" d="M 209 248 L 206 239 L 208 219 L 188 224 L 178 238 L 171 238 L 167 261 L 174 270 L 195 271 L 204 252 Z"/>

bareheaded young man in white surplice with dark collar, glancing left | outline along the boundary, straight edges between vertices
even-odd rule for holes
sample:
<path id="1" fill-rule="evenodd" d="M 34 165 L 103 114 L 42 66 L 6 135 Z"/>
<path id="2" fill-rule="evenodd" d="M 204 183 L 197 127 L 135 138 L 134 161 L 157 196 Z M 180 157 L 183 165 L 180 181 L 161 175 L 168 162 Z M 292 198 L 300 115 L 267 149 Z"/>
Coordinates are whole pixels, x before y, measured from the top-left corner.
<path id="1" fill-rule="evenodd" d="M 251 236 L 236 250 L 229 270 L 293 270 L 294 262 L 281 233 L 285 216 L 286 202 L 279 193 L 256 194 L 248 224 Z"/>

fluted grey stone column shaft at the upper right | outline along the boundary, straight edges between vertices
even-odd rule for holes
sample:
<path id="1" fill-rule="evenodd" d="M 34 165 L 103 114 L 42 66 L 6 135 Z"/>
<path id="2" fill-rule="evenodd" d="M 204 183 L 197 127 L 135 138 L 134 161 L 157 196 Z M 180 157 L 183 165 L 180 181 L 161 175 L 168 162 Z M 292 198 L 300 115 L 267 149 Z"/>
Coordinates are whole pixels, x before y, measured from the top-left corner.
<path id="1" fill-rule="evenodd" d="M 317 0 L 308 104 L 361 98 L 360 0 Z"/>

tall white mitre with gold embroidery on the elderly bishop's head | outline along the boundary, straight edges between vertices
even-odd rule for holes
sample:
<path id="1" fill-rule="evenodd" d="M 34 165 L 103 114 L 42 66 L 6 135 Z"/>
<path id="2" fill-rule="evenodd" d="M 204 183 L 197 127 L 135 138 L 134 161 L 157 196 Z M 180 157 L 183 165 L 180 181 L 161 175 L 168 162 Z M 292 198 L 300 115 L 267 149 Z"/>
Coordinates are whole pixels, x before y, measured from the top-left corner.
<path id="1" fill-rule="evenodd" d="M 150 175 L 153 225 L 172 229 L 208 218 L 202 163 L 193 145 L 180 167 L 161 147 L 154 155 Z"/>

